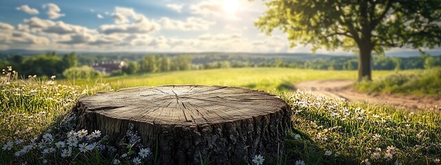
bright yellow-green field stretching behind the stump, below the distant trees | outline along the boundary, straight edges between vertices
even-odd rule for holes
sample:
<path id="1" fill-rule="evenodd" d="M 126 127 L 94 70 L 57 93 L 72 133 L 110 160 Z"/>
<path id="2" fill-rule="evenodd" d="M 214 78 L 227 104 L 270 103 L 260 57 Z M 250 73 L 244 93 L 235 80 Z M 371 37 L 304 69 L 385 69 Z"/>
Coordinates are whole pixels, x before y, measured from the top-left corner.
<path id="1" fill-rule="evenodd" d="M 373 78 L 392 73 L 391 71 L 374 71 Z M 356 71 L 328 71 L 291 68 L 238 68 L 238 69 L 210 69 L 185 72 L 170 72 L 161 74 L 142 74 L 130 76 L 115 76 L 95 81 L 77 80 L 76 85 L 93 85 L 96 82 L 110 83 L 114 89 L 138 86 L 157 85 L 226 85 L 249 87 L 264 91 L 283 91 L 291 85 L 305 80 L 346 80 L 356 79 Z M 64 81 L 66 85 L 74 82 Z"/>

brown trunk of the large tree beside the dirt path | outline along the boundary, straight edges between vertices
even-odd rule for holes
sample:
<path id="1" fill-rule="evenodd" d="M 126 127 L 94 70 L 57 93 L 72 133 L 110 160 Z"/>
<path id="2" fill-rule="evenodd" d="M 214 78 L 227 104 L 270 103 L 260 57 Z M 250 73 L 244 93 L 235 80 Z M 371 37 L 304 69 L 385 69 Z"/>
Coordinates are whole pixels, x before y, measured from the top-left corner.
<path id="1" fill-rule="evenodd" d="M 372 49 L 369 46 L 360 47 L 360 57 L 358 58 L 358 81 L 372 80 L 371 53 Z"/>

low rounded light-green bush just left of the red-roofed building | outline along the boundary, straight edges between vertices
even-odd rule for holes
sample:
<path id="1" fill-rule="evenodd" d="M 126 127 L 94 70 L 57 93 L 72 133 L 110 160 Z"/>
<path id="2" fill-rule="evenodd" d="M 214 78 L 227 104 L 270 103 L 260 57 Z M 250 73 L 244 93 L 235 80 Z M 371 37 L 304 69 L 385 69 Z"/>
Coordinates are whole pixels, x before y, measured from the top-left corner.
<path id="1" fill-rule="evenodd" d="M 94 70 L 92 67 L 71 67 L 63 72 L 63 76 L 68 79 L 94 80 L 101 78 L 104 74 Z"/>

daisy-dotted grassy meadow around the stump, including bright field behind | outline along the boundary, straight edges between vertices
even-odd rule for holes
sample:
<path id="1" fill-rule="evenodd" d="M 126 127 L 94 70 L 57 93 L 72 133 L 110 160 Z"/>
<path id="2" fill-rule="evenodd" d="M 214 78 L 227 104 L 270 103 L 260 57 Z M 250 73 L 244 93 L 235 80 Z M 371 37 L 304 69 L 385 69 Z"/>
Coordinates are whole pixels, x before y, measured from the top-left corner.
<path id="1" fill-rule="evenodd" d="M 112 146 L 105 143 L 101 133 L 89 130 L 92 137 L 87 139 L 81 136 L 84 131 L 72 130 L 66 136 L 57 132 L 57 126 L 81 96 L 165 84 L 249 87 L 283 98 L 291 105 L 293 128 L 287 135 L 285 154 L 278 159 L 265 159 L 263 164 L 440 164 L 439 112 L 344 102 L 292 90 L 292 84 L 301 81 L 353 79 L 356 74 L 355 71 L 242 68 L 74 82 L 38 77 L 20 80 L 13 76 L 12 69 L 6 69 L 0 85 L 3 147 L 0 164 L 155 164 L 154 149 L 146 152 L 142 146 L 133 145 L 136 138 L 127 142 L 126 149 L 112 153 Z M 388 74 L 391 72 L 373 72 L 374 80 Z M 68 145 L 69 135 L 75 137 L 76 144 Z M 65 145 L 58 146 L 61 142 Z M 260 154 L 265 157 L 265 153 Z M 252 164 L 252 157 L 246 161 Z"/>

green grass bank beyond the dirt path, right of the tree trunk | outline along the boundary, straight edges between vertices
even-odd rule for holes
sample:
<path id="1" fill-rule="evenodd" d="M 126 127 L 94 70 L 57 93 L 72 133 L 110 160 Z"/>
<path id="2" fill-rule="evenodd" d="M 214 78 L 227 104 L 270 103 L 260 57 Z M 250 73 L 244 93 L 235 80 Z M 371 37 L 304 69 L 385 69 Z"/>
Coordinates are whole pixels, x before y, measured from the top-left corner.
<path id="1" fill-rule="evenodd" d="M 389 74 L 372 82 L 356 83 L 354 87 L 367 93 L 441 96 L 441 68 Z"/>

